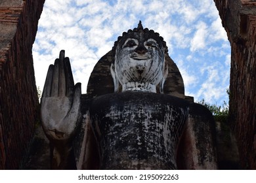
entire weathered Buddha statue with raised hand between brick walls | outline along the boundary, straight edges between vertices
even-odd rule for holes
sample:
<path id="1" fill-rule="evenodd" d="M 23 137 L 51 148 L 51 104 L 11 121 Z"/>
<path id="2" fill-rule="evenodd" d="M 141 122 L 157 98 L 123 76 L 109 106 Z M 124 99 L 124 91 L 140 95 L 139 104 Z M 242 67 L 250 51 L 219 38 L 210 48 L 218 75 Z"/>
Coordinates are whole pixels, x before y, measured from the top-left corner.
<path id="1" fill-rule="evenodd" d="M 168 92 L 174 63 L 158 33 L 139 22 L 105 58 L 93 73 L 106 77 L 92 73 L 83 95 L 63 50 L 49 66 L 41 121 L 52 169 L 217 169 L 213 116 Z"/>

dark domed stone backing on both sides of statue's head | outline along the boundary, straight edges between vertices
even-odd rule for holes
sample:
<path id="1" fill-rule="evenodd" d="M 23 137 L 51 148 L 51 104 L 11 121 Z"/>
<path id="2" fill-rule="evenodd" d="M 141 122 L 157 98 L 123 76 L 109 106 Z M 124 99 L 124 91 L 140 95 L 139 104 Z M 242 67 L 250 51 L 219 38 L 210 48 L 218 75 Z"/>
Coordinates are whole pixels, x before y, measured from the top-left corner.
<path id="1" fill-rule="evenodd" d="M 112 52 L 113 50 L 100 58 L 91 73 L 87 84 L 87 94 L 92 97 L 114 92 L 114 82 L 110 73 L 110 66 L 114 59 Z M 168 65 L 168 75 L 163 86 L 163 93 L 182 99 L 186 98 L 183 79 L 177 65 L 169 56 L 165 56 L 165 60 Z M 192 101 L 193 99 L 188 100 Z"/>

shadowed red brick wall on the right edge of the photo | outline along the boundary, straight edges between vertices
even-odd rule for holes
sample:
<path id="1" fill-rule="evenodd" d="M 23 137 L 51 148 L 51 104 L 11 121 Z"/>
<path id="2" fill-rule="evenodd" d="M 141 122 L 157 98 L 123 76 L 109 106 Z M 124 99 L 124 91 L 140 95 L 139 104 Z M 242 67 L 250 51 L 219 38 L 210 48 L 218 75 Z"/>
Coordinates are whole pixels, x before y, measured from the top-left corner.
<path id="1" fill-rule="evenodd" d="M 256 2 L 215 0 L 231 44 L 230 123 L 244 169 L 256 169 Z"/>

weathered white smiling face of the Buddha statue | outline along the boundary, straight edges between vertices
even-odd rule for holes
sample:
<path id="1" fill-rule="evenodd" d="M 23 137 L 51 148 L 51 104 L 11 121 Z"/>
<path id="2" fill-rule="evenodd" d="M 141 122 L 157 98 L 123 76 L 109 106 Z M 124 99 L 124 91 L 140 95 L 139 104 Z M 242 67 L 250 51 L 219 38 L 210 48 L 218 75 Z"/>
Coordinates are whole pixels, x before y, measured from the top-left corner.
<path id="1" fill-rule="evenodd" d="M 158 37 L 131 33 L 116 48 L 115 73 L 120 84 L 129 82 L 157 85 L 163 78 L 164 51 Z"/>

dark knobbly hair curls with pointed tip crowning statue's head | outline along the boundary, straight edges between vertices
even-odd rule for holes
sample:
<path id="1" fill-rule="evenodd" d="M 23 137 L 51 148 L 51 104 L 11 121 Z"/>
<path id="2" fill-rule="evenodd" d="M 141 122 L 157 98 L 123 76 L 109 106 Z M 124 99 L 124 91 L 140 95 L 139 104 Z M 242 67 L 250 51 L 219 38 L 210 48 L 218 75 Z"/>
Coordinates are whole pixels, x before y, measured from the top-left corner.
<path id="1" fill-rule="evenodd" d="M 141 21 L 139 21 L 138 27 L 135 27 L 133 30 L 129 29 L 127 32 L 123 32 L 122 36 L 119 36 L 117 38 L 117 41 L 115 41 L 114 46 L 112 47 L 112 53 L 114 56 L 116 54 L 117 44 L 121 41 L 121 39 L 123 39 L 123 38 L 126 39 L 126 37 L 129 37 L 129 34 L 131 34 L 131 33 L 146 33 L 146 34 L 150 34 L 150 35 L 156 37 L 157 39 L 160 39 L 161 43 L 163 44 L 163 49 L 164 49 L 165 54 L 168 54 L 168 47 L 166 46 L 166 42 L 163 41 L 163 37 L 161 37 L 159 35 L 159 33 L 156 33 L 154 30 L 149 30 L 148 28 L 144 29 Z"/>

